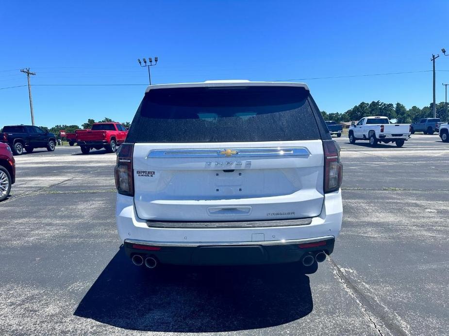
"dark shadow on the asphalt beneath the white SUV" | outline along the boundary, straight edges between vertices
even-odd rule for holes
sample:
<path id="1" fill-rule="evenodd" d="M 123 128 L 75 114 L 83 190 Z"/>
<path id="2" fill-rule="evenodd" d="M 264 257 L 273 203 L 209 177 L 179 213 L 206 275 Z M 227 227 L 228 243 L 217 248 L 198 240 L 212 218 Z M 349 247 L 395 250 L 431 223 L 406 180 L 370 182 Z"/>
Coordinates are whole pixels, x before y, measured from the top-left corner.
<path id="1" fill-rule="evenodd" d="M 154 332 L 224 332 L 298 320 L 313 309 L 298 266 L 134 266 L 116 253 L 74 315 Z"/>

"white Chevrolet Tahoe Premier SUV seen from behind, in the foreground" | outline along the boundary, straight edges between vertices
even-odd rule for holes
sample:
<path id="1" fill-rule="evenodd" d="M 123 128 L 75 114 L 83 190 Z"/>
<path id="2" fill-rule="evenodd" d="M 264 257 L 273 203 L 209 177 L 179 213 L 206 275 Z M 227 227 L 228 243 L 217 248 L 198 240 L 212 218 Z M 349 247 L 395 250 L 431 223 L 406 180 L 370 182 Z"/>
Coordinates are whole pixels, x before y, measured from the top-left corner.
<path id="1" fill-rule="evenodd" d="M 342 222 L 340 149 L 300 83 L 148 87 L 115 168 L 134 264 L 316 269 Z"/>

